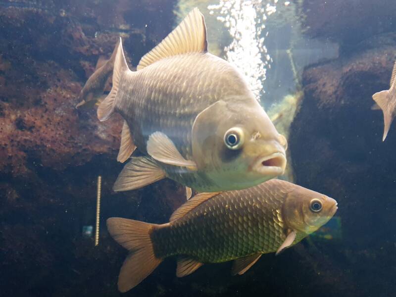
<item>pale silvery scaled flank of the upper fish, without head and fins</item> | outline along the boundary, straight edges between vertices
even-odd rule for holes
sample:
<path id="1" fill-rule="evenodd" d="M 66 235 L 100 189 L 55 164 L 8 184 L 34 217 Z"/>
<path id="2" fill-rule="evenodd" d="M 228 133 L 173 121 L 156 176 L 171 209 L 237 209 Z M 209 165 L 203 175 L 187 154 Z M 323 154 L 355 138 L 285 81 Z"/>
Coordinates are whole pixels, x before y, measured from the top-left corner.
<path id="1" fill-rule="evenodd" d="M 199 72 L 194 71 L 197 64 Z M 226 75 L 220 75 L 223 72 Z M 157 61 L 125 75 L 119 90 L 122 94 L 116 109 L 128 122 L 136 146 L 147 153 L 149 135 L 161 131 L 187 159 L 191 158 L 191 130 L 198 113 L 220 97 L 227 100 L 228 95 L 248 92 L 234 67 L 209 53 Z"/>

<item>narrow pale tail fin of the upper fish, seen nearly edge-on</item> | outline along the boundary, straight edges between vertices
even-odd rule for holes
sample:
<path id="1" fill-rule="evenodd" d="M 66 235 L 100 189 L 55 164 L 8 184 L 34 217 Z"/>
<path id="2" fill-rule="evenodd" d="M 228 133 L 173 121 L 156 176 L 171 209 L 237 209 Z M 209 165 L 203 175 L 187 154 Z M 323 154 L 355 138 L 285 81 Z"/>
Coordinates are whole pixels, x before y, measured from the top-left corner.
<path id="1" fill-rule="evenodd" d="M 118 47 L 116 47 L 116 54 L 114 60 L 114 70 L 113 70 L 113 87 L 111 88 L 111 92 L 107 95 L 106 99 L 100 103 L 98 107 L 98 119 L 102 122 L 107 120 L 111 114 L 114 112 L 115 100 L 117 98 L 118 87 L 123 74 L 129 71 L 128 64 L 125 60 L 124 50 L 122 49 L 121 38 L 118 43 Z M 113 58 L 114 52 L 112 54 Z"/>

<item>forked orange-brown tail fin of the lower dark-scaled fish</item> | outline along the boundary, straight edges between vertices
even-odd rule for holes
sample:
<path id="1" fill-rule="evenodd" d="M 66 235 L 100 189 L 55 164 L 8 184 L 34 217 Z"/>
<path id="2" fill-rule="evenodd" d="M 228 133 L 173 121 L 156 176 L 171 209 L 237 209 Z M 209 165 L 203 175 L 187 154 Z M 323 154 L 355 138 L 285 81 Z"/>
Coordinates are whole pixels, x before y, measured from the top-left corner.
<path id="1" fill-rule="evenodd" d="M 127 292 L 142 282 L 162 262 L 154 255 L 150 234 L 159 225 L 123 218 L 107 219 L 107 229 L 114 240 L 127 248 L 118 276 L 118 290 Z"/>

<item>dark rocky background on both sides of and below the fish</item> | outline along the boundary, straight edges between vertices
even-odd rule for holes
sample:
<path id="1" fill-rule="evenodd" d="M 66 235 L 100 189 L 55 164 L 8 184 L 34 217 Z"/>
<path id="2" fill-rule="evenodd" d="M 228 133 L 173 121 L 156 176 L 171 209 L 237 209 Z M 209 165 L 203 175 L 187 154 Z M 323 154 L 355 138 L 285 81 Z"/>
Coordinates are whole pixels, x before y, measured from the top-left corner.
<path id="1" fill-rule="evenodd" d="M 339 202 L 341 241 L 303 241 L 266 255 L 241 277 L 230 263 L 175 277 L 166 260 L 125 296 L 395 296 L 396 132 L 382 143 L 372 94 L 388 88 L 396 2 L 304 0 L 305 34 L 340 44 L 340 57 L 306 67 L 289 140 L 297 183 Z M 119 296 L 126 251 L 110 216 L 166 222 L 184 201 L 170 180 L 114 194 L 121 119 L 74 108 L 101 54 L 123 36 L 131 65 L 173 25 L 171 0 L 0 0 L 0 295 Z M 146 26 L 147 25 L 147 26 Z M 209 28 L 210 30 L 210 28 Z M 95 225 L 98 247 L 82 236 Z"/>

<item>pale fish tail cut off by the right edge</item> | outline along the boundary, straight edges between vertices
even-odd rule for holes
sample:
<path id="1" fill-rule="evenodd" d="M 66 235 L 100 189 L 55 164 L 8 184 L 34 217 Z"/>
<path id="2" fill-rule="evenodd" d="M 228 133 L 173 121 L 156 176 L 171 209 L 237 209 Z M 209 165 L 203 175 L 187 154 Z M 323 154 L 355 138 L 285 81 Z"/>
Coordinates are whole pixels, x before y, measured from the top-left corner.
<path id="1" fill-rule="evenodd" d="M 391 87 L 389 90 L 381 91 L 373 95 L 373 100 L 378 104 L 384 113 L 384 136 L 382 141 L 387 138 L 389 128 L 396 113 L 396 61 L 392 70 Z M 376 109 L 375 107 L 373 109 Z"/>

